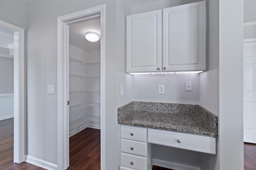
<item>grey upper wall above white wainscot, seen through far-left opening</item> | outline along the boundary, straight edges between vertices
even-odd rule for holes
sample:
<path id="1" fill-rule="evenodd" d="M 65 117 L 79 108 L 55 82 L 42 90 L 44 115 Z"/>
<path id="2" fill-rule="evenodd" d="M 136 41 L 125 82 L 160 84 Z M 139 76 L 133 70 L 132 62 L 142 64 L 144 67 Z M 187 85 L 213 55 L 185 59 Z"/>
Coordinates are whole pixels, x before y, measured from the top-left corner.
<path id="1" fill-rule="evenodd" d="M 0 94 L 13 93 L 13 59 L 0 57 Z"/>

